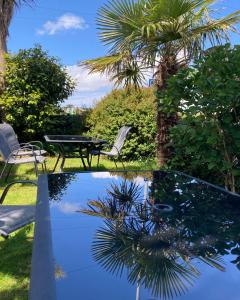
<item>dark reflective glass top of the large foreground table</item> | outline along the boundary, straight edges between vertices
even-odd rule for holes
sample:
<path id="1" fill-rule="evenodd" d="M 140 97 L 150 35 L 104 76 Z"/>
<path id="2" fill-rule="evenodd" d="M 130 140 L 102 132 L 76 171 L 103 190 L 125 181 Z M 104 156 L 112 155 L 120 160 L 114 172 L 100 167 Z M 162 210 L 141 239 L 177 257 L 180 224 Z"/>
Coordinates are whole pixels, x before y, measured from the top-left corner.
<path id="1" fill-rule="evenodd" d="M 57 299 L 239 299 L 238 195 L 159 171 L 48 181 Z"/>

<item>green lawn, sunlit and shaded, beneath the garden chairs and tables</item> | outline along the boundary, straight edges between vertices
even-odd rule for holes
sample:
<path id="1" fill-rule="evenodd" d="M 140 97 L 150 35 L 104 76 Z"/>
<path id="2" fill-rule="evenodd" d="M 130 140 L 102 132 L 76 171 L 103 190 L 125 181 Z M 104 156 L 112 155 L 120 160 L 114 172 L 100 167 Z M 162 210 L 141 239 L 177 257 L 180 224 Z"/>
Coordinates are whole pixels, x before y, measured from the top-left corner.
<path id="1" fill-rule="evenodd" d="M 47 168 L 52 170 L 56 158 L 47 159 Z M 93 166 L 96 161 L 93 161 Z M 127 162 L 128 170 L 149 170 L 156 168 L 153 161 Z M 2 167 L 2 166 L 1 166 Z M 101 160 L 101 170 L 114 170 L 113 162 Z M 98 169 L 98 170 L 99 170 Z M 120 165 L 119 165 L 120 169 Z M 93 167 L 93 171 L 97 170 Z M 67 159 L 65 172 L 83 171 L 79 159 Z M 8 182 L 18 179 L 36 180 L 34 169 L 31 165 L 22 165 L 13 169 Z M 0 193 L 6 183 L 0 181 Z M 37 188 L 32 185 L 18 184 L 10 189 L 4 204 L 35 204 Z M 13 233 L 8 240 L 0 238 L 0 299 L 25 300 L 28 299 L 29 278 L 31 270 L 31 254 L 33 243 L 33 225 L 24 227 Z"/>

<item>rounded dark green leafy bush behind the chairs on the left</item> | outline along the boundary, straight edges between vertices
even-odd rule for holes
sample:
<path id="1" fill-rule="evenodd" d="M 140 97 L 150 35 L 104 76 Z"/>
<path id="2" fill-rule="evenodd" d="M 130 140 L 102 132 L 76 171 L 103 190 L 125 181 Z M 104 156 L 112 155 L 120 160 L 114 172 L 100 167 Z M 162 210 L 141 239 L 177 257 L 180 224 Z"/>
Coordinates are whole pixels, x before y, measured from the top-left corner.
<path id="1" fill-rule="evenodd" d="M 42 138 L 74 84 L 55 57 L 40 46 L 6 57 L 6 89 L 0 96 L 5 121 L 22 141 Z"/>

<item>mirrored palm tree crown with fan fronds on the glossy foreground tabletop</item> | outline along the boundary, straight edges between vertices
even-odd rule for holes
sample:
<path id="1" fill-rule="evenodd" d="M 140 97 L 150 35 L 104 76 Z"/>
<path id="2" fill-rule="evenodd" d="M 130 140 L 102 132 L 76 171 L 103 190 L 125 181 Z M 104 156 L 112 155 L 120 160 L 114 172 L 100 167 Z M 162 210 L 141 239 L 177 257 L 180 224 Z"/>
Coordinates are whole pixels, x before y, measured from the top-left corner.
<path id="1" fill-rule="evenodd" d="M 202 241 L 190 243 L 183 228 L 169 226 L 154 207 L 141 204 L 138 189 L 126 181 L 119 187 L 112 185 L 105 199 L 91 201 L 82 210 L 106 219 L 93 242 L 97 262 L 119 276 L 126 269 L 131 284 L 163 298 L 181 295 L 193 285 L 200 275 L 193 265 L 196 258 L 224 271 L 217 255 L 203 251 Z"/>

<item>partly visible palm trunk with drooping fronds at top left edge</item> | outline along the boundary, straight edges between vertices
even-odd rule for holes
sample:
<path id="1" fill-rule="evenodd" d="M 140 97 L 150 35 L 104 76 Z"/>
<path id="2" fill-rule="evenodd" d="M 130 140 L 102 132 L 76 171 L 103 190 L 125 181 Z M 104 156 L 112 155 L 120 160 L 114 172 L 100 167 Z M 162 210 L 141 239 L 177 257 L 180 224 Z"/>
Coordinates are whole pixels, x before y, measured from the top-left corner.
<path id="1" fill-rule="evenodd" d="M 14 14 L 14 9 L 23 3 L 30 3 L 32 1 L 33 0 L 0 0 L 0 91 L 4 88 L 4 56 L 7 53 L 8 29 Z"/>

